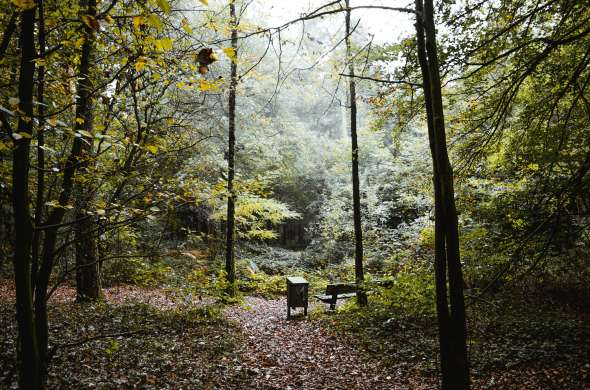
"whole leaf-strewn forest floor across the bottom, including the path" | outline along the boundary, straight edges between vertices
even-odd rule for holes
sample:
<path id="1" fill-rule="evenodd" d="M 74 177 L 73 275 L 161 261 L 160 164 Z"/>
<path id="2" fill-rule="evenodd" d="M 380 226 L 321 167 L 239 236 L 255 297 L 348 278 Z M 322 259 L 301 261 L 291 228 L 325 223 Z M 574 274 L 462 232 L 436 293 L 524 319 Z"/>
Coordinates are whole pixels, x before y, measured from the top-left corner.
<path id="1" fill-rule="evenodd" d="M 323 315 L 321 305 L 307 319 L 287 321 L 284 299 L 246 297 L 222 307 L 129 286 L 105 289 L 101 303 L 76 304 L 74 296 L 72 288 L 62 287 L 50 300 L 49 388 L 437 387 L 436 333 L 421 326 L 398 323 L 394 336 L 366 337 L 341 324 L 350 325 L 354 315 Z M 15 388 L 14 288 L 1 280 L 0 328 L 6 330 L 0 333 L 0 388 Z M 572 329 L 560 341 L 535 326 L 542 345 L 529 333 L 498 336 L 500 327 L 478 329 L 488 341 L 474 337 L 472 350 L 494 356 L 474 359 L 474 388 L 590 389 L 587 329 Z M 519 342 L 531 349 L 527 357 L 538 358 L 516 359 L 514 346 L 523 350 Z M 556 361 L 553 350 L 567 356 Z"/>

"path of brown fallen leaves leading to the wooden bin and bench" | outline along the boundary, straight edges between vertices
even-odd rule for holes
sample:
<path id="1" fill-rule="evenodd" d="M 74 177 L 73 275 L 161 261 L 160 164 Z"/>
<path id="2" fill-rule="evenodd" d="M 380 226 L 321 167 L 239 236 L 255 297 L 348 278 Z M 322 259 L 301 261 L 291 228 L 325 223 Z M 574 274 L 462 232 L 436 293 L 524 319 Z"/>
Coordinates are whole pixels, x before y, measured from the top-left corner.
<path id="1" fill-rule="evenodd" d="M 349 337 L 338 337 L 320 321 L 286 320 L 285 300 L 249 297 L 226 316 L 240 324 L 244 343 L 226 375 L 248 378 L 259 389 L 426 389 L 413 383 L 411 366 L 386 367 L 359 350 Z"/>

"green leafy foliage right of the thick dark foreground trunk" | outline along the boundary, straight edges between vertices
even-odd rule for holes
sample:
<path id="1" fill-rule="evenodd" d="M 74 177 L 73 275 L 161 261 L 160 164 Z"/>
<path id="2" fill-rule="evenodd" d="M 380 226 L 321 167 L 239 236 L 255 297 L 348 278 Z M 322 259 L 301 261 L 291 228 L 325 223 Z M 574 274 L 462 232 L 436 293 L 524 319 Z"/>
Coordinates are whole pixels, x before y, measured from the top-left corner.
<path id="1" fill-rule="evenodd" d="M 458 190 L 483 179 L 477 192 L 492 206 L 463 207 L 490 226 L 493 245 L 477 245 L 489 290 L 547 266 L 563 275 L 585 257 L 590 14 L 577 1 L 473 4 L 445 13 L 446 51 L 459 75 L 457 168 L 470 178 Z M 490 12 L 494 23 L 481 17 Z"/>

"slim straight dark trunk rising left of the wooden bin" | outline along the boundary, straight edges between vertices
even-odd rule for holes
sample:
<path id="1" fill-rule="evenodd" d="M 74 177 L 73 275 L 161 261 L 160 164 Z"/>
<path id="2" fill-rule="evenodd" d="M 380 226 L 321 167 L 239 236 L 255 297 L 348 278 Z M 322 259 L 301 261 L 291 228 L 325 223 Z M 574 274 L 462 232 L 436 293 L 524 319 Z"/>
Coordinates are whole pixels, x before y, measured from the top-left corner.
<path id="1" fill-rule="evenodd" d="M 227 232 L 225 246 L 225 272 L 230 285 L 230 294 L 235 293 L 236 265 L 234 261 L 234 214 L 236 194 L 234 192 L 235 174 L 235 144 L 236 144 L 236 88 L 238 86 L 238 30 L 236 18 L 236 5 L 230 0 L 231 47 L 234 49 L 234 58 L 231 59 L 231 79 L 229 84 L 229 137 L 227 151 Z"/>

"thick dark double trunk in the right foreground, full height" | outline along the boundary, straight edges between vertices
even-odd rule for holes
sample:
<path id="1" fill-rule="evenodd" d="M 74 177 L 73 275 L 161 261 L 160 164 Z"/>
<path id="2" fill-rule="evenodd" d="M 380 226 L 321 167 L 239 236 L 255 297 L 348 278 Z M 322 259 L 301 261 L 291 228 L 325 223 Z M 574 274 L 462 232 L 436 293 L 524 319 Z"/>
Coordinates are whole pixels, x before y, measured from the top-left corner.
<path id="1" fill-rule="evenodd" d="M 424 3 L 422 2 L 424 1 Z M 435 283 L 443 389 L 469 389 L 467 329 L 459 229 L 444 125 L 432 0 L 416 0 L 418 58 L 422 70 L 434 171 Z M 447 275 L 449 298 L 447 297 Z"/>

